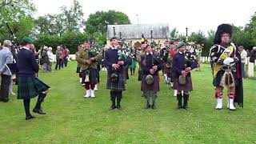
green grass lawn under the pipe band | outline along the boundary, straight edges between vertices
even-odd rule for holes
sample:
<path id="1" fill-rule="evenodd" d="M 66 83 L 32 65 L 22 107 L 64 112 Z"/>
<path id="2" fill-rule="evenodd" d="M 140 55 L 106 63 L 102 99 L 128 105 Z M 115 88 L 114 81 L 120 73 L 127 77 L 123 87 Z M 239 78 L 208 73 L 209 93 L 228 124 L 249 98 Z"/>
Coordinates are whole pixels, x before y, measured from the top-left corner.
<path id="1" fill-rule="evenodd" d="M 163 81 L 157 109 L 146 110 L 136 74 L 127 82 L 122 110 L 109 110 L 106 71 L 96 98 L 86 99 L 75 70 L 76 63 L 70 62 L 63 70 L 39 74 L 51 86 L 42 103 L 46 115 L 25 121 L 21 100 L 11 95 L 13 102 L 0 102 L 0 143 L 256 143 L 255 80 L 244 81 L 244 109 L 227 110 L 225 93 L 225 109 L 214 110 L 210 66 L 202 65 L 201 72 L 193 72 L 190 110 L 176 110 L 173 90 Z"/>

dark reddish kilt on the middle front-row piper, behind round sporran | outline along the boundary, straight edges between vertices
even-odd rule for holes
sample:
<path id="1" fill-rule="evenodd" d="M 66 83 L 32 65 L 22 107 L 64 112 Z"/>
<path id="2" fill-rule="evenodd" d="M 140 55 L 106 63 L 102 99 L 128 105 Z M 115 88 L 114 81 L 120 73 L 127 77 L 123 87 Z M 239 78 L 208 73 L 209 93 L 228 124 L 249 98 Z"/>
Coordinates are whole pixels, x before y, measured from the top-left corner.
<path id="1" fill-rule="evenodd" d="M 159 91 L 160 90 L 159 74 L 158 75 L 153 75 L 153 78 L 154 78 L 154 83 L 152 85 L 147 85 L 146 84 L 146 74 L 142 74 L 142 86 L 141 86 L 142 91 L 146 91 L 146 90 Z"/>

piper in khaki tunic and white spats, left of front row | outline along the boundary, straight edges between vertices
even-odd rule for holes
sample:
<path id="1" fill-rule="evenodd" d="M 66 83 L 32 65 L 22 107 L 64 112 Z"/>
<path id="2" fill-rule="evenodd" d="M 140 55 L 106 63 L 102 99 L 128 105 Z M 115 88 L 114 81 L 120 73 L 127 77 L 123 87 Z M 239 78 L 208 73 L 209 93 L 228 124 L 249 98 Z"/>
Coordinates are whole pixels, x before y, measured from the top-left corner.
<path id="1" fill-rule="evenodd" d="M 76 60 L 80 64 L 82 71 L 82 82 L 84 82 L 86 88 L 85 98 L 94 98 L 94 87 L 97 84 L 97 61 L 102 58 L 101 54 L 98 54 L 96 50 L 90 49 L 90 42 L 86 40 L 84 43 L 84 50 L 78 53 Z"/>

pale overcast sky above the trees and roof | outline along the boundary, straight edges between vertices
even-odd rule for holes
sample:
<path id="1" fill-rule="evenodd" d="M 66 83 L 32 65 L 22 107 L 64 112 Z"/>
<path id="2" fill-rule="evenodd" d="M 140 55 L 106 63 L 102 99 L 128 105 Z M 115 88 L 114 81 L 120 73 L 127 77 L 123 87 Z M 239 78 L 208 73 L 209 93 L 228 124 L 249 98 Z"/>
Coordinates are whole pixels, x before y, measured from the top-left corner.
<path id="1" fill-rule="evenodd" d="M 73 0 L 33 0 L 37 12 L 59 14 L 60 7 L 70 7 Z M 179 34 L 216 30 L 222 23 L 245 26 L 256 12 L 256 0 L 78 0 L 84 18 L 98 10 L 116 10 L 127 14 L 132 24 L 168 23 Z"/>

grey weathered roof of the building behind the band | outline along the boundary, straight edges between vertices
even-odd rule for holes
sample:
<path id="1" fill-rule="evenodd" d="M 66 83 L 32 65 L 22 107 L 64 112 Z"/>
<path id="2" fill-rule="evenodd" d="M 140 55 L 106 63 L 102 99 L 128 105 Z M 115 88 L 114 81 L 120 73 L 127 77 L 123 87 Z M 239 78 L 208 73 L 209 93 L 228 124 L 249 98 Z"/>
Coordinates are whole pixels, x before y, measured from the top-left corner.
<path id="1" fill-rule="evenodd" d="M 114 27 L 114 28 L 113 28 Z M 110 39 L 114 36 L 114 30 L 116 36 L 120 38 L 120 32 L 122 38 L 126 39 L 139 39 L 144 34 L 145 38 L 150 39 L 150 30 L 153 30 L 153 38 L 169 38 L 169 24 L 138 24 L 138 25 L 108 25 L 106 39 Z"/>

